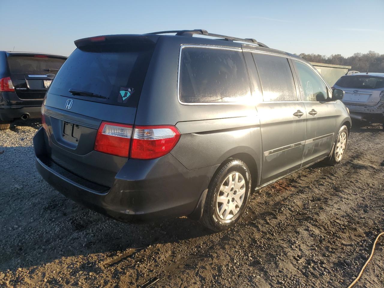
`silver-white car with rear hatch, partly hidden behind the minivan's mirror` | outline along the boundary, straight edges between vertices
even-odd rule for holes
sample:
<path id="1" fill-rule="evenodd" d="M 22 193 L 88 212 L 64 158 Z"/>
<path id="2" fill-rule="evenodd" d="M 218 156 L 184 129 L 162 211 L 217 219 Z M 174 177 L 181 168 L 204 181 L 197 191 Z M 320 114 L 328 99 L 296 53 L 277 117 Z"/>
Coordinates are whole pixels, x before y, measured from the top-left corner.
<path id="1" fill-rule="evenodd" d="M 383 123 L 384 131 L 384 73 L 344 75 L 332 88 L 345 92 L 342 101 L 352 119 Z"/>

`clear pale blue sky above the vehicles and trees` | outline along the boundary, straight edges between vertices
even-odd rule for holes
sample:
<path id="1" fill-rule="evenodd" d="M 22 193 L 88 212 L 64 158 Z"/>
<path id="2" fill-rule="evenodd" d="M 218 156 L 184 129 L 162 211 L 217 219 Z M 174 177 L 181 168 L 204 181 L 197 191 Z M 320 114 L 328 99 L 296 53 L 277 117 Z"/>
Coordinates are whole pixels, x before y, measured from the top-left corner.
<path id="1" fill-rule="evenodd" d="M 79 38 L 205 29 L 291 53 L 384 54 L 384 0 L 0 0 L 0 50 L 68 56 Z"/>

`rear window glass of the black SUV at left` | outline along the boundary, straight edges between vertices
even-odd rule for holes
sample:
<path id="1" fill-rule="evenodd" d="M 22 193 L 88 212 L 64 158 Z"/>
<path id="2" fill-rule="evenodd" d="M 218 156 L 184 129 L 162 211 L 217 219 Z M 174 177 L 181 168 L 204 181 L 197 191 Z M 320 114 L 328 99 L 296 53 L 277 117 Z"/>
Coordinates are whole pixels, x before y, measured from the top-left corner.
<path id="1" fill-rule="evenodd" d="M 34 57 L 34 56 L 8 56 L 9 71 L 15 73 L 56 73 L 65 59 Z"/>

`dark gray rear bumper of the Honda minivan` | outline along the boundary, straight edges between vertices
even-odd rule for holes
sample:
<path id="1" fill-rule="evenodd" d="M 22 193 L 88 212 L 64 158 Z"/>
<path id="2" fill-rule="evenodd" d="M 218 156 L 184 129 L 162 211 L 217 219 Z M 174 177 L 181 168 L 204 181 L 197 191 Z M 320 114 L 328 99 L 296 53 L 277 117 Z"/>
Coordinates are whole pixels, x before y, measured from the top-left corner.
<path id="1" fill-rule="evenodd" d="M 153 160 L 129 159 L 112 187 L 105 187 L 52 162 L 46 153 L 46 139 L 43 128 L 33 137 L 36 167 L 41 176 L 68 198 L 122 222 L 192 214 L 218 167 L 187 170 L 171 154 Z"/>

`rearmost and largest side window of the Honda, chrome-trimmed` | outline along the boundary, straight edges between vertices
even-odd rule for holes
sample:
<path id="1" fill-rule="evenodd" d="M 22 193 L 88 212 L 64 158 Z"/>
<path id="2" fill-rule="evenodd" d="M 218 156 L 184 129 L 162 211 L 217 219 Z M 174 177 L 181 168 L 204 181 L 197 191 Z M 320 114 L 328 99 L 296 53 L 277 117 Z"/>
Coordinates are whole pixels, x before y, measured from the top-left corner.
<path id="1" fill-rule="evenodd" d="M 183 47 L 179 69 L 182 102 L 236 102 L 250 98 L 242 51 Z"/>

